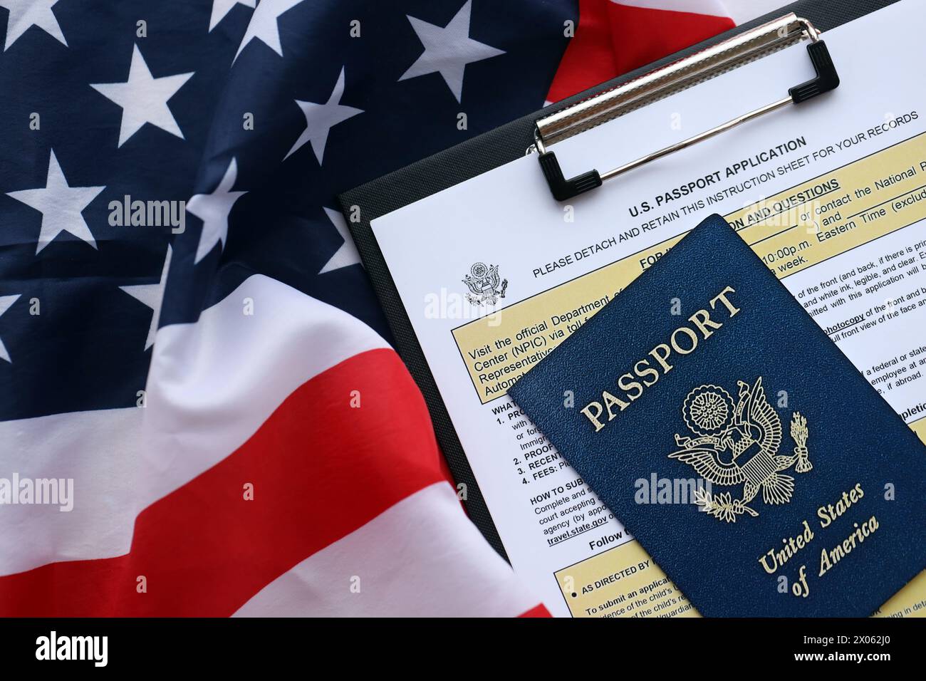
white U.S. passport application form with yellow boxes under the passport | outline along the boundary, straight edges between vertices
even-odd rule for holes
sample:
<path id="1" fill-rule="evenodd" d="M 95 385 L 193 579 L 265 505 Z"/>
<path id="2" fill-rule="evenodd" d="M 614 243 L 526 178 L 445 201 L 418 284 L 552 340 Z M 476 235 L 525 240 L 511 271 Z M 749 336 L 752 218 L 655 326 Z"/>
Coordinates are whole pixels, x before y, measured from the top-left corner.
<path id="1" fill-rule="evenodd" d="M 697 615 L 507 388 L 711 213 L 926 440 L 924 25 L 902 0 L 826 32 L 834 92 L 566 204 L 531 155 L 372 221 L 512 567 L 550 612 Z M 805 45 L 557 144 L 566 176 L 781 98 L 814 75 Z M 926 573 L 879 614 L 926 616 Z"/>

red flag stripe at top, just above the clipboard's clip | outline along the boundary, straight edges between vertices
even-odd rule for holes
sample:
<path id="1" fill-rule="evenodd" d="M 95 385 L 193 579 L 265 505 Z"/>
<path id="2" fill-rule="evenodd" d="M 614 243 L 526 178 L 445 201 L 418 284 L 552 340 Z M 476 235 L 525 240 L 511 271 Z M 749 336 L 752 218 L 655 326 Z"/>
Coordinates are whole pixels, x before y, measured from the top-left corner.
<path id="1" fill-rule="evenodd" d="M 579 26 L 546 98 L 557 102 L 734 25 L 728 17 L 579 0 Z"/>

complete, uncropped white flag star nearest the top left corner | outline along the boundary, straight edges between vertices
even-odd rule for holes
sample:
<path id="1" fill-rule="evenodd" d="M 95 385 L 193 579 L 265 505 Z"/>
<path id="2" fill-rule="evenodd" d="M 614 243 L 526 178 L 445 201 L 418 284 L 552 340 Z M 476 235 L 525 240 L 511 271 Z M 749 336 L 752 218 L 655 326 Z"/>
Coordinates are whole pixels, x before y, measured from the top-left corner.
<path id="1" fill-rule="evenodd" d="M 178 73 L 175 76 L 155 78 L 144 63 L 138 45 L 132 45 L 129 79 L 126 82 L 91 83 L 91 87 L 122 107 L 122 121 L 119 125 L 121 146 L 145 123 L 156 125 L 161 130 L 183 139 L 177 120 L 170 113 L 168 100 L 181 89 L 193 73 Z"/>

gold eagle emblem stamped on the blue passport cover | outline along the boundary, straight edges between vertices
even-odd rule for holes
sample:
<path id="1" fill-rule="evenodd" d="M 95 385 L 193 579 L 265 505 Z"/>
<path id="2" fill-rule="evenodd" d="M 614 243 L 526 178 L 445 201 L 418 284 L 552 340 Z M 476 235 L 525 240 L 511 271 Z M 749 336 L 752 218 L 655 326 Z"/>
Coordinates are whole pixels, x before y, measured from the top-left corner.
<path id="1" fill-rule="evenodd" d="M 749 385 L 737 381 L 739 394 L 734 402 L 720 385 L 698 385 L 682 404 L 682 419 L 694 435 L 675 435 L 680 449 L 669 454 L 689 464 L 712 485 L 743 484 L 741 498 L 729 492 L 712 495 L 698 489 L 695 503 L 720 521 L 735 523 L 744 513 L 757 516 L 750 504 L 761 491 L 767 504 L 786 504 L 795 491 L 795 478 L 784 473 L 791 466 L 795 473 L 807 473 L 813 464 L 807 455 L 807 419 L 795 411 L 791 417 L 794 453 L 779 454 L 782 420 L 769 404 L 762 377 Z"/>

